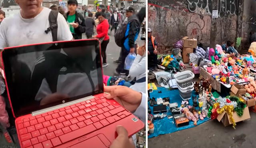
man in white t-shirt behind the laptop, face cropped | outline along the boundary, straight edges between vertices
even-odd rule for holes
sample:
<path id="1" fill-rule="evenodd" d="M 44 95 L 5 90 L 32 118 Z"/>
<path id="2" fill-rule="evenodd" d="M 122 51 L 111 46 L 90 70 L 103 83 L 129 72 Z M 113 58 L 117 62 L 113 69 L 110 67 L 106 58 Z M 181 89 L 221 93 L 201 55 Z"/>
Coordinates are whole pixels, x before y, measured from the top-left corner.
<path id="1" fill-rule="evenodd" d="M 50 26 L 50 9 L 42 7 L 42 0 L 16 0 L 20 13 L 4 19 L 0 26 L 0 49 L 18 45 L 52 41 L 52 32 L 44 31 Z M 65 18 L 57 18 L 58 41 L 72 40 L 73 36 Z"/>

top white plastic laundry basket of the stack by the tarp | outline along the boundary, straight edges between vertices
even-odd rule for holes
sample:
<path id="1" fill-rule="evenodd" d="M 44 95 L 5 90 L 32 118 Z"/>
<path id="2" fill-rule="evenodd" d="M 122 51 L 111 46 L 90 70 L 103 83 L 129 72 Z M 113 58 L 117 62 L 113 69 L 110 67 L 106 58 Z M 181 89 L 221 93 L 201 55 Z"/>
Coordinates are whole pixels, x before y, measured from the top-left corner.
<path id="1" fill-rule="evenodd" d="M 185 88 L 191 85 L 193 78 L 195 77 L 192 71 L 182 71 L 181 73 L 176 73 L 174 75 L 177 84 L 181 88 Z"/>

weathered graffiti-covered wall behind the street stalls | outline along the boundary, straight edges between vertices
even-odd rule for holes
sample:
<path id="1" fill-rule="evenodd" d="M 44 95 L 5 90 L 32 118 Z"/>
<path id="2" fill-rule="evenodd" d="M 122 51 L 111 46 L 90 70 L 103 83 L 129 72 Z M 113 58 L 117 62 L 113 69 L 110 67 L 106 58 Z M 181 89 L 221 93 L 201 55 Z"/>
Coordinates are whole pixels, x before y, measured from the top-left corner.
<path id="1" fill-rule="evenodd" d="M 148 0 L 148 27 L 162 50 L 171 48 L 184 36 L 210 45 L 210 36 L 222 44 L 241 36 L 238 18 L 242 0 Z M 215 9 L 214 9 L 214 6 Z M 212 10 L 218 10 L 216 31 L 211 34 Z M 242 18 L 242 17 L 241 17 Z"/>

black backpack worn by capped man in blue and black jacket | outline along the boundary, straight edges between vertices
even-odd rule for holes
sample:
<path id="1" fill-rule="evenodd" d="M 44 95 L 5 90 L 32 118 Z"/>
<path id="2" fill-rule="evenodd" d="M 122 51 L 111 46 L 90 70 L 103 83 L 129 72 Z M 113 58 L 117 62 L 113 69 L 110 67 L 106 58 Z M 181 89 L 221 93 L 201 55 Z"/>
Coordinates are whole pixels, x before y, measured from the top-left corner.
<path id="1" fill-rule="evenodd" d="M 115 37 L 115 42 L 116 42 L 116 45 L 118 45 L 119 47 L 123 47 L 124 45 L 124 41 L 127 37 L 125 37 L 125 32 L 126 32 L 126 29 L 127 29 L 127 25 L 132 22 L 133 20 L 136 20 L 138 22 L 140 22 L 137 18 L 137 16 L 131 16 L 133 18 L 131 18 L 129 20 L 129 22 L 127 21 L 126 23 L 122 24 L 122 25 L 119 25 L 117 30 L 116 30 L 116 33 L 114 34 L 114 37 Z"/>

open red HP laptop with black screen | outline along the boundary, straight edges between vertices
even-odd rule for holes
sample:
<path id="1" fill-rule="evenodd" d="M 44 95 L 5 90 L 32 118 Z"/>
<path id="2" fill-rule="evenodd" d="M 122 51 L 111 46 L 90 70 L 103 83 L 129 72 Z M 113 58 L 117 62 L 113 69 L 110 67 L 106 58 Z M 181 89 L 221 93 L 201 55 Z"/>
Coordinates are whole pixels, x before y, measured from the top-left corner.
<path id="1" fill-rule="evenodd" d="M 144 123 L 104 97 L 98 39 L 9 47 L 6 86 L 21 148 L 107 148 Z"/>

